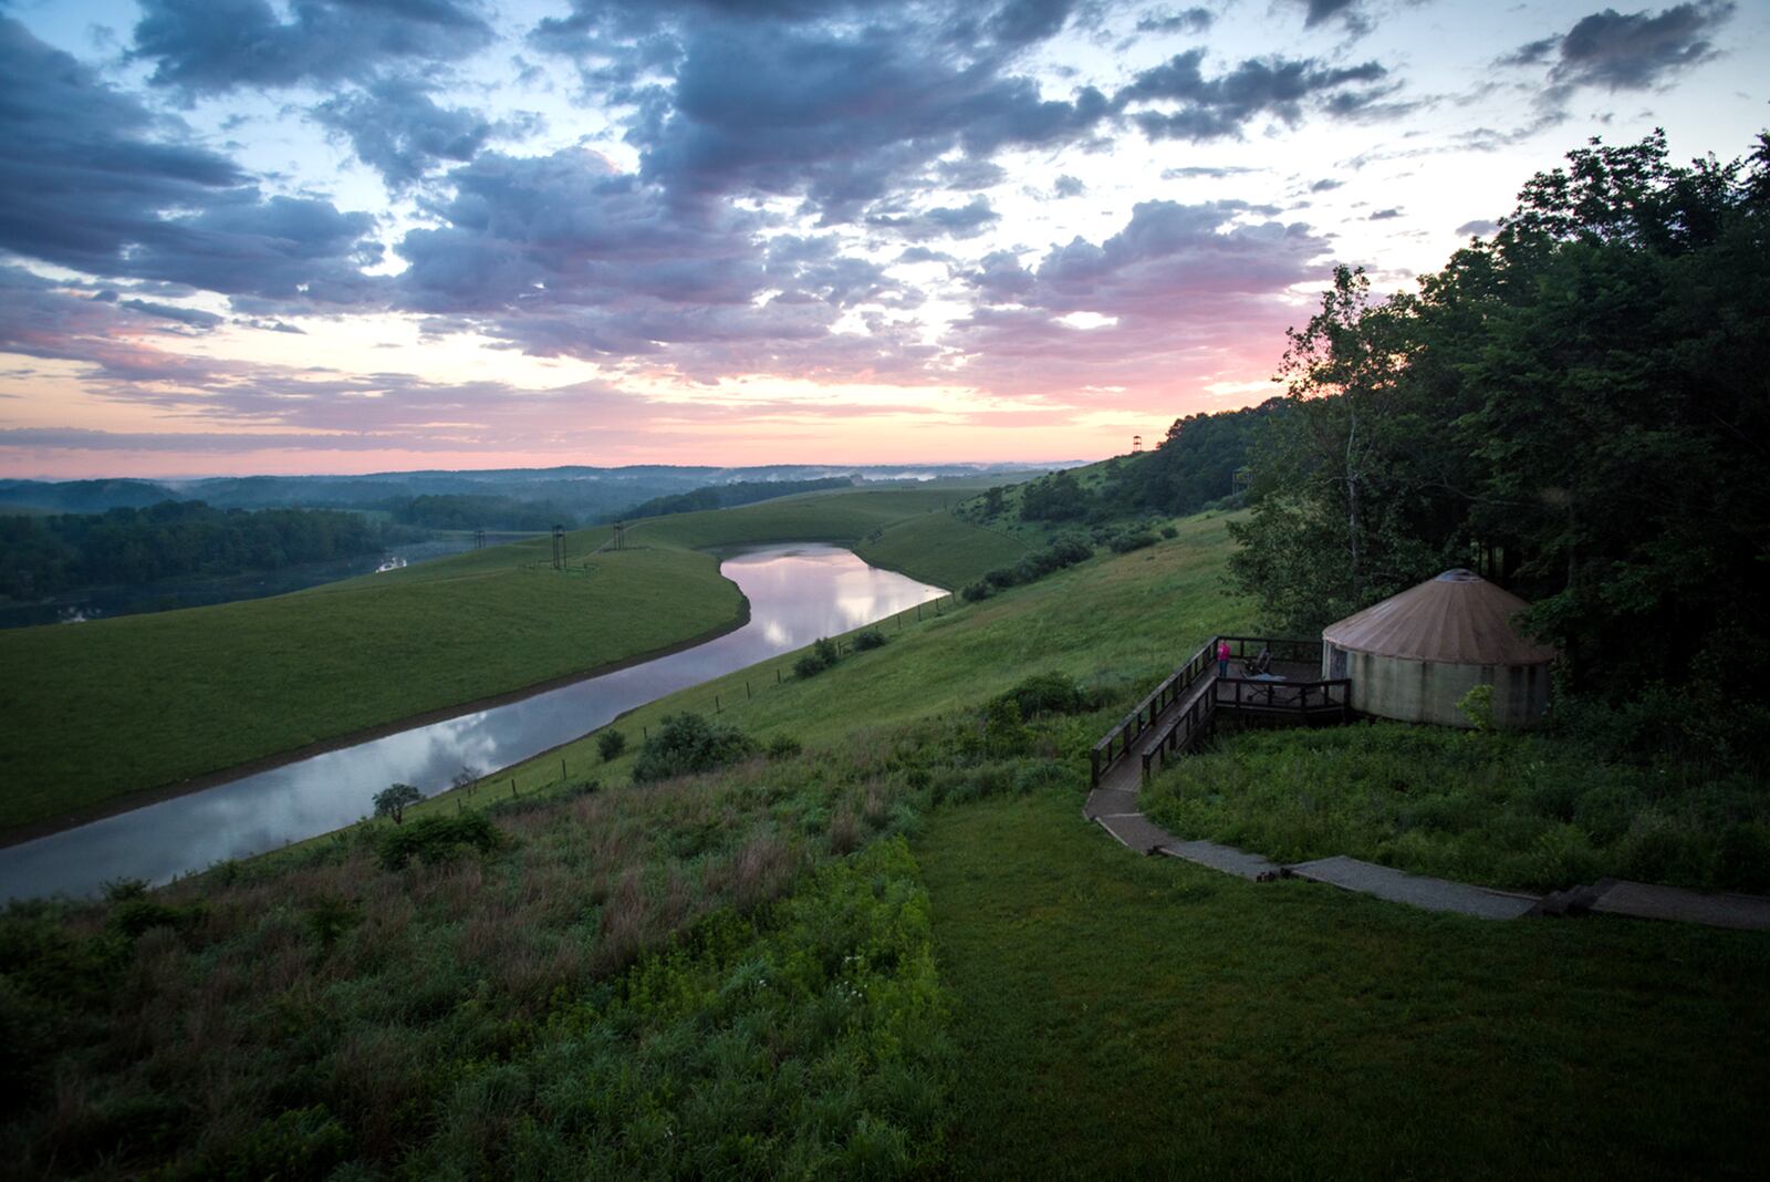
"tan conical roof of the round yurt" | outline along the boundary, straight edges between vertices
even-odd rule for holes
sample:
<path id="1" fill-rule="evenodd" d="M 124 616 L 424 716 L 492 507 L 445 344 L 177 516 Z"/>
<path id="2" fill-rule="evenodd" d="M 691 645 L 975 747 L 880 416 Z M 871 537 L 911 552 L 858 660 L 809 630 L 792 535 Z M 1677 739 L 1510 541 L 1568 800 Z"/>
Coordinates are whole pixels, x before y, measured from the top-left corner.
<path id="1" fill-rule="evenodd" d="M 1540 665 L 1554 648 L 1519 633 L 1513 618 L 1529 603 L 1469 570 L 1446 570 L 1322 628 L 1343 649 L 1457 665 Z"/>

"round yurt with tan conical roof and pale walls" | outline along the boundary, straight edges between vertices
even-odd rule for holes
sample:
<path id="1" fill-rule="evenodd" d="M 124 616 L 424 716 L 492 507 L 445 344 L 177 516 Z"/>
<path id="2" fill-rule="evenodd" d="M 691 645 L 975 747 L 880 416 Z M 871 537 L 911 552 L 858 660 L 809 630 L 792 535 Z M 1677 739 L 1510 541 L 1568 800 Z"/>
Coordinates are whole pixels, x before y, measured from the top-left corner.
<path id="1" fill-rule="evenodd" d="M 1519 633 L 1526 607 L 1474 572 L 1446 570 L 1324 628 L 1322 676 L 1351 678 L 1359 713 L 1450 727 L 1471 725 L 1457 702 L 1490 685 L 1494 725 L 1535 725 L 1554 648 Z"/>

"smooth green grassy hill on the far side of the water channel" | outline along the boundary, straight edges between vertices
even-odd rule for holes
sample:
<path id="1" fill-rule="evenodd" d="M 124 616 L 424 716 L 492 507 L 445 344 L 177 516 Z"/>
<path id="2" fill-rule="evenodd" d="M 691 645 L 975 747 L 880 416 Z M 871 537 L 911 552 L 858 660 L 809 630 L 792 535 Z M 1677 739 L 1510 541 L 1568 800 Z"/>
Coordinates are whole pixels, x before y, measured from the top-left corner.
<path id="1" fill-rule="evenodd" d="M 297 595 L 0 633 L 0 830 L 73 816 L 368 727 L 641 658 L 742 618 L 694 550 L 828 540 L 950 586 L 1018 556 L 958 522 L 942 488 L 807 494 L 641 522 L 573 572 L 536 538 Z M 908 533 L 889 527 L 910 524 Z M 876 543 L 866 538 L 876 536 Z M 885 538 L 892 538 L 885 543 Z"/>

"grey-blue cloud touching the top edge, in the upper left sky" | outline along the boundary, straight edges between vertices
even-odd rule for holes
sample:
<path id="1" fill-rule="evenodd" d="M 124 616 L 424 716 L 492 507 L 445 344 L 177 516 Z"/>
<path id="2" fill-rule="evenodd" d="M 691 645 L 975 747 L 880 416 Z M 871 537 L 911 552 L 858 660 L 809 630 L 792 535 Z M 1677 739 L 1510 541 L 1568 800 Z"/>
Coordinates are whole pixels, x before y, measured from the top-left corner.
<path id="1" fill-rule="evenodd" d="M 142 0 L 133 57 L 152 81 L 193 92 L 366 78 L 391 60 L 451 60 L 483 48 L 490 27 L 453 0 Z"/>

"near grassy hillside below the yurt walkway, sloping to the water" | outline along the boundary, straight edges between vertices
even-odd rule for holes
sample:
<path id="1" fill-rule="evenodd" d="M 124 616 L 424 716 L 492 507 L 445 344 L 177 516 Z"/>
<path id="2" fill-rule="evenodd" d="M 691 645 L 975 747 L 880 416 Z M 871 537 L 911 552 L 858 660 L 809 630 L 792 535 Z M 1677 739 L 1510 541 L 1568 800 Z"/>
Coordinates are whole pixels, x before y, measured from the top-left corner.
<path id="1" fill-rule="evenodd" d="M 722 683 L 720 724 L 802 754 L 632 787 L 579 743 L 517 800 L 499 777 L 12 910 L 0 1152 L 50 1177 L 1754 1170 L 1761 934 L 1425 915 L 1080 819 L 1103 725 L 1246 623 L 1225 556 L 1191 520 L 816 676 Z M 1053 669 L 1092 706 L 988 706 Z"/>

